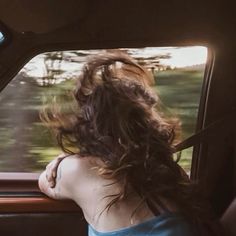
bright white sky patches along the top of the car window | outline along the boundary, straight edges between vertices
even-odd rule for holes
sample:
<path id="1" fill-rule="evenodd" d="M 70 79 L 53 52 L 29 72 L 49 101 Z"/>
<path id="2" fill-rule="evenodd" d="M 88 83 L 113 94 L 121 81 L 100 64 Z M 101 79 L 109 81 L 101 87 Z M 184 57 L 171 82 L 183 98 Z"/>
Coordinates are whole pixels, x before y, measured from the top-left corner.
<path id="1" fill-rule="evenodd" d="M 171 58 L 161 59 L 161 64 L 178 68 L 205 64 L 207 60 L 207 48 L 201 46 L 158 48 L 147 47 L 140 49 L 128 49 L 128 51 L 135 57 L 152 57 L 169 54 Z M 86 53 L 88 52 L 96 54 L 99 53 L 99 50 L 87 50 Z M 46 73 L 43 58 L 43 54 L 33 58 L 28 64 L 26 64 L 25 68 L 23 68 L 23 71 L 27 71 L 27 74 L 32 77 L 43 77 Z M 66 71 L 64 76 L 78 73 L 81 67 L 81 63 L 62 62 L 61 64 L 61 68 Z"/>

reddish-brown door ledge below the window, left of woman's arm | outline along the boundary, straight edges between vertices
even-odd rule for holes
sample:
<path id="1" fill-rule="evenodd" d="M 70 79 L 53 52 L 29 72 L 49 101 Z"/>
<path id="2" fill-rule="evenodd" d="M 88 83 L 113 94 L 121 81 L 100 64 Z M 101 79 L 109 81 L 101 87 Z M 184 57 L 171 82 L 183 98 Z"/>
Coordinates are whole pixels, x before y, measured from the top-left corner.
<path id="1" fill-rule="evenodd" d="M 70 200 L 57 201 L 41 193 L 38 173 L 0 173 L 0 213 L 79 212 Z"/>

